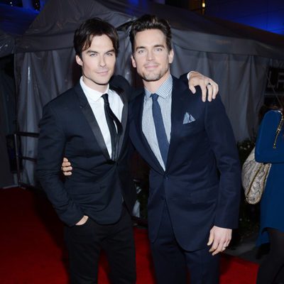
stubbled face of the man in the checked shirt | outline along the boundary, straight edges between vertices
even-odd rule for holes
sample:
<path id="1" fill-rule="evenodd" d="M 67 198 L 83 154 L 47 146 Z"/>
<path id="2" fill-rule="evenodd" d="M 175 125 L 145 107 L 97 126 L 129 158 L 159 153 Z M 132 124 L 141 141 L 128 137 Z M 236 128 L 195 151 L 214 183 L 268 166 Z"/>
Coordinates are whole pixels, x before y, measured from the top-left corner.
<path id="1" fill-rule="evenodd" d="M 162 82 L 170 74 L 173 50 L 168 50 L 162 31 L 158 29 L 141 31 L 135 35 L 131 60 L 143 80 Z"/>

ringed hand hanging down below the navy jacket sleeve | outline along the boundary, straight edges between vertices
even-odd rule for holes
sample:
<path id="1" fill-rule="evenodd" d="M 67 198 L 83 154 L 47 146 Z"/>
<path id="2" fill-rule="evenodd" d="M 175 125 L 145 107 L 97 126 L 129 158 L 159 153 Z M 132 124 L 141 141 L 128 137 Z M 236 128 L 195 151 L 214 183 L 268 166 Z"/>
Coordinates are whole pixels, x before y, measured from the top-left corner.
<path id="1" fill-rule="evenodd" d="M 207 246 L 211 246 L 209 252 L 214 256 L 220 253 L 229 246 L 231 241 L 231 229 L 220 228 L 219 226 L 213 226 L 210 230 L 209 241 Z"/>

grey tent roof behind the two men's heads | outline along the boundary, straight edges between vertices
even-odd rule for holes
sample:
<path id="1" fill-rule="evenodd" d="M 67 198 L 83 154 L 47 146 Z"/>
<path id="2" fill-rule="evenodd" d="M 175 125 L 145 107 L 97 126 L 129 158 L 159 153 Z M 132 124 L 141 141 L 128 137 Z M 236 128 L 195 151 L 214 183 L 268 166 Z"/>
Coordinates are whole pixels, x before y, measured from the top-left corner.
<path id="1" fill-rule="evenodd" d="M 132 1 L 133 2 L 133 1 Z M 284 59 L 284 38 L 238 23 L 205 18 L 185 9 L 148 1 L 48 1 L 17 45 L 17 52 L 72 48 L 78 23 L 99 16 L 116 28 L 144 13 L 167 18 L 180 47 L 209 53 L 258 55 Z"/>

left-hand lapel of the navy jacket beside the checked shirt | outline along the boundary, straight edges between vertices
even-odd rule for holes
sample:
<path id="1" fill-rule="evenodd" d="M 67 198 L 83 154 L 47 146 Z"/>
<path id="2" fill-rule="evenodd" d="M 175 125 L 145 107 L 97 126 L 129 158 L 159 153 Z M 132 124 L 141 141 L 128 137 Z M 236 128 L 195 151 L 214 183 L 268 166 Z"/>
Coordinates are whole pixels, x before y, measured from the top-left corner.
<path id="1" fill-rule="evenodd" d="M 158 172 L 164 172 L 163 168 L 161 167 L 160 163 L 158 162 L 155 154 L 153 153 L 151 147 L 148 144 L 148 141 L 143 133 L 142 130 L 142 115 L 143 115 L 143 104 L 144 104 L 144 92 L 141 91 L 141 94 L 135 99 L 135 104 L 132 104 L 133 109 L 133 121 L 136 128 L 137 133 L 137 141 L 141 141 L 141 145 L 143 146 L 143 151 L 139 151 L 143 158 L 147 161 L 152 168 L 154 168 Z"/>

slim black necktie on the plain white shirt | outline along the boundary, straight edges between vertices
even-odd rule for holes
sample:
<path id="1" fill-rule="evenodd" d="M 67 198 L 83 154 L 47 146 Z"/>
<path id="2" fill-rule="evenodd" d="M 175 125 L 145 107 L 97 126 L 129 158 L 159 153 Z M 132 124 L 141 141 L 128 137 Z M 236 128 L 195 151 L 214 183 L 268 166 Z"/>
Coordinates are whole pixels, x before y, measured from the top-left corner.
<path id="1" fill-rule="evenodd" d="M 122 125 L 109 107 L 109 95 L 103 94 L 102 98 L 104 99 L 104 113 L 106 115 L 107 125 L 109 126 L 109 133 L 111 134 L 111 160 L 116 160 L 118 158 L 117 147 L 119 136 L 121 136 L 122 133 Z"/>

